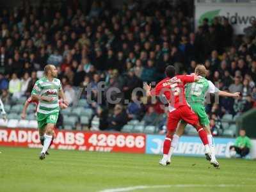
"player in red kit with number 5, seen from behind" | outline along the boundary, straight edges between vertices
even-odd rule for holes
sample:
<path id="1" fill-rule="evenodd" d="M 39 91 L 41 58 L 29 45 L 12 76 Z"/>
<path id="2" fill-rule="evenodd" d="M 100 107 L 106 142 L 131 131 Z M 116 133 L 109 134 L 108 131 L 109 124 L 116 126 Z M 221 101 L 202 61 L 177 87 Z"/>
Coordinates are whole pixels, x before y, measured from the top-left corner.
<path id="1" fill-rule="evenodd" d="M 166 78 L 157 83 L 156 88 L 151 90 L 151 85 L 144 83 L 143 88 L 146 90 L 147 97 L 164 95 L 169 102 L 169 114 L 167 120 L 167 133 L 163 146 L 163 159 L 159 161 L 159 164 L 166 166 L 170 164 L 168 162 L 168 153 L 172 143 L 173 134 L 176 131 L 176 127 L 179 121 L 183 119 L 188 124 L 193 125 L 205 145 L 205 154 L 211 156 L 209 143 L 207 140 L 207 134 L 204 131 L 202 125 L 200 125 L 198 116 L 189 107 L 184 93 L 184 86 L 186 83 L 193 83 L 199 80 L 197 76 L 175 76 L 175 68 L 169 65 L 165 69 Z"/>

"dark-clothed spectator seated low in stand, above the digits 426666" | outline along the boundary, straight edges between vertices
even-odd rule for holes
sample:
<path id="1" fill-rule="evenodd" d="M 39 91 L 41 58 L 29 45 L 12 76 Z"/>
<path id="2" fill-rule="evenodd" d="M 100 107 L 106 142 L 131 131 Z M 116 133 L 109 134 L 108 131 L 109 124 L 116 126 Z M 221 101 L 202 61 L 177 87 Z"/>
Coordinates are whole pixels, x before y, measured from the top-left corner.
<path id="1" fill-rule="evenodd" d="M 120 131 L 127 123 L 127 113 L 122 105 L 116 104 L 113 114 L 108 118 L 108 131 Z"/>

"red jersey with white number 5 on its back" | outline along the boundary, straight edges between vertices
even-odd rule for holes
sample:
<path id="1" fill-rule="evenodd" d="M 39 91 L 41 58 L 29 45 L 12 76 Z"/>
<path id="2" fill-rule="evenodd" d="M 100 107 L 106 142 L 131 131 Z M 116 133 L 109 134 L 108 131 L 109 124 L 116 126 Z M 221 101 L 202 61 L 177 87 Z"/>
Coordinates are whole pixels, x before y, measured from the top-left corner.
<path id="1" fill-rule="evenodd" d="M 151 95 L 164 95 L 169 102 L 169 106 L 173 109 L 179 106 L 187 105 L 184 93 L 184 86 L 186 83 L 193 83 L 195 77 L 191 75 L 166 77 L 159 83 L 156 88 L 151 91 Z"/>

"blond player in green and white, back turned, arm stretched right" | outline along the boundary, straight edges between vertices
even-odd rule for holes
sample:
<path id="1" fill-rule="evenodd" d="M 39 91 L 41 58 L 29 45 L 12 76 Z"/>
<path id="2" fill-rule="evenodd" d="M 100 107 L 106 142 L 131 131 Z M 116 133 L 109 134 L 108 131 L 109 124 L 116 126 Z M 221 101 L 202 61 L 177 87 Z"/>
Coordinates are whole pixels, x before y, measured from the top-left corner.
<path id="1" fill-rule="evenodd" d="M 186 86 L 186 100 L 195 111 L 196 115 L 198 115 L 198 118 L 200 120 L 200 124 L 204 126 L 205 131 L 207 132 L 207 138 L 209 141 L 209 145 L 211 148 L 211 157 L 206 156 L 207 160 L 211 161 L 211 164 L 215 167 L 219 167 L 220 164 L 216 160 L 215 157 L 215 148 L 214 148 L 214 141 L 211 134 L 211 129 L 209 126 L 209 118 L 207 116 L 207 113 L 205 112 L 204 107 L 204 101 L 205 101 L 205 95 L 207 93 L 218 93 L 218 95 L 223 97 L 239 97 L 240 93 L 228 93 L 220 91 L 218 88 L 214 86 L 214 84 L 211 81 L 208 81 L 205 79 L 206 76 L 206 68 L 204 65 L 197 65 L 195 68 L 195 74 L 196 76 L 200 77 L 200 80 L 196 83 L 188 83 Z M 172 146 L 170 148 L 169 154 L 168 154 L 168 162 L 170 163 L 173 150 L 177 147 L 179 143 L 179 137 L 182 136 L 184 129 L 186 127 L 186 123 L 183 121 L 180 121 L 177 131 L 173 136 L 172 140 Z"/>

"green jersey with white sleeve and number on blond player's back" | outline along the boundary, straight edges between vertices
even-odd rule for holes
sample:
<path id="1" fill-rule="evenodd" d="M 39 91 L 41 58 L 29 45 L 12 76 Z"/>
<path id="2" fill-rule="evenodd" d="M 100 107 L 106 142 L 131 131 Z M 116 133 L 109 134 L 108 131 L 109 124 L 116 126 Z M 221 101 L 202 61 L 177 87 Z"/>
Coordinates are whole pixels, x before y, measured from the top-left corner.
<path id="1" fill-rule="evenodd" d="M 214 86 L 211 81 L 205 79 L 204 77 L 200 77 L 199 81 L 186 84 L 186 100 L 188 104 L 204 104 L 205 96 L 207 93 L 216 93 L 219 91 L 220 90 L 216 88 L 216 86 Z"/>

